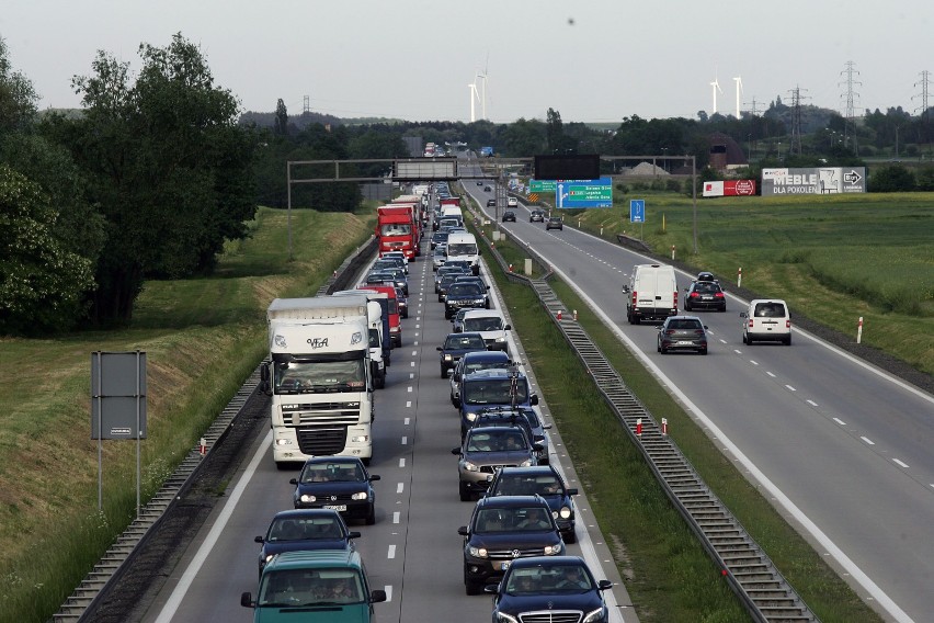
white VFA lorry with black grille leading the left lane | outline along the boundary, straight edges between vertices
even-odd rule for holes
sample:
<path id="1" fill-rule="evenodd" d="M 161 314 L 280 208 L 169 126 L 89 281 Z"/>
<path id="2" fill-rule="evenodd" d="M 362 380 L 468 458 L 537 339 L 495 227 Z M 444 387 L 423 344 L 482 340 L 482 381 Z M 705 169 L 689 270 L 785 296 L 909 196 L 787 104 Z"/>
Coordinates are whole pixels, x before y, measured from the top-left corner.
<path id="1" fill-rule="evenodd" d="M 271 397 L 276 467 L 331 455 L 368 463 L 375 406 L 366 297 L 276 298 L 266 322 L 260 387 Z"/>

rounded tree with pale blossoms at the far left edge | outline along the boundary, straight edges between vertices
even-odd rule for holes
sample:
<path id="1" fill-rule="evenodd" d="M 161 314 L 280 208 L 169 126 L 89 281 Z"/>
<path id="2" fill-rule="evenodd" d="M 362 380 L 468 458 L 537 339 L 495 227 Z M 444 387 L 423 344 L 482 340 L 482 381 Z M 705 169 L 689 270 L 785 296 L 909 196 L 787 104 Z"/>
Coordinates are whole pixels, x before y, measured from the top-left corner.
<path id="1" fill-rule="evenodd" d="M 83 312 L 91 262 L 56 238 L 56 217 L 37 184 L 0 165 L 0 333 L 70 328 Z"/>

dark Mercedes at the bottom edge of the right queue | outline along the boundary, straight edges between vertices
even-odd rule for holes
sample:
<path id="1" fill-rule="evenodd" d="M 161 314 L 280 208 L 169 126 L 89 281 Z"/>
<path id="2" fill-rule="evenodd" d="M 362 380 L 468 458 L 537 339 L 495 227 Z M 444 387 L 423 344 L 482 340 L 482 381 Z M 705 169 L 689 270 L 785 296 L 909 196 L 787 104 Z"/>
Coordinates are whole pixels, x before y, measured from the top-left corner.
<path id="1" fill-rule="evenodd" d="M 520 558 L 510 565 L 493 593 L 493 621 L 610 621 L 603 591 L 610 580 L 595 580 L 580 556 Z M 559 614 L 560 613 L 560 619 Z"/>

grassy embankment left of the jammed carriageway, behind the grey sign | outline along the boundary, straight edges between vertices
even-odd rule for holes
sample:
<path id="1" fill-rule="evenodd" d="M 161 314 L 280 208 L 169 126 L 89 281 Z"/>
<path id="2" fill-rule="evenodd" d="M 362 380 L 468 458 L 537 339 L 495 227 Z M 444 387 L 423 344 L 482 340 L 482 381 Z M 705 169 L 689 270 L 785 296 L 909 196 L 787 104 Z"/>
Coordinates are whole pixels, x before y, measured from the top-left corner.
<path id="1" fill-rule="evenodd" d="M 260 209 L 216 274 L 148 282 L 129 328 L 0 340 L 0 621 L 44 622 L 136 514 L 136 444 L 104 443 L 98 511 L 90 353 L 147 353 L 143 499 L 158 489 L 265 354 L 265 308 L 314 295 L 372 219 Z"/>

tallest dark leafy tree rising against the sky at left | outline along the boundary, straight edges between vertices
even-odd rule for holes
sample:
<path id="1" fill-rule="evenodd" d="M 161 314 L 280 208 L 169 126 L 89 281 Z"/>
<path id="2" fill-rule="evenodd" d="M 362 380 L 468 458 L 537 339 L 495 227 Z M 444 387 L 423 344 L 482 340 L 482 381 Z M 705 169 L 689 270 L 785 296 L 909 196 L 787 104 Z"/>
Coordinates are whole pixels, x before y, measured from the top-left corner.
<path id="1" fill-rule="evenodd" d="M 214 86 L 201 50 L 176 34 L 139 55 L 130 83 L 128 64 L 99 52 L 93 75 L 73 80 L 86 114 L 58 135 L 107 220 L 98 321 L 128 320 L 147 277 L 212 269 L 225 239 L 246 237 L 255 214 L 257 135 L 237 126 L 237 101 Z"/>

